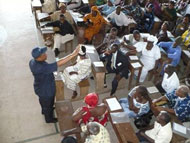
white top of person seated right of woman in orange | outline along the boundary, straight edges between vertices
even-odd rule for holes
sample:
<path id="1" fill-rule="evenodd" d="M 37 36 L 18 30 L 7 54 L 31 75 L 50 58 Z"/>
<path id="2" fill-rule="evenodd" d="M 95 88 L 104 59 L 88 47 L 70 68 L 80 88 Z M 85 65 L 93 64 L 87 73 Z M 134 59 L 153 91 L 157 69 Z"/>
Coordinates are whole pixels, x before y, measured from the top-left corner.
<path id="1" fill-rule="evenodd" d="M 108 18 L 114 19 L 117 26 L 128 26 L 130 23 L 135 23 L 131 18 L 128 18 L 122 11 L 116 14 L 116 10 L 108 15 Z"/>

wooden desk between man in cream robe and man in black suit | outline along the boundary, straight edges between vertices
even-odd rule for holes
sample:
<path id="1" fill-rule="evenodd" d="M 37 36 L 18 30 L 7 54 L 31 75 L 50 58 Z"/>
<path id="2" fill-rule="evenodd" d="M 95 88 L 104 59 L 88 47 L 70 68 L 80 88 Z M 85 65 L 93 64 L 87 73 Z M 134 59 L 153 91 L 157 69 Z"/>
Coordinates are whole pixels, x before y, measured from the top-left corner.
<path id="1" fill-rule="evenodd" d="M 85 46 L 88 47 L 88 45 Z M 94 66 L 93 62 L 100 62 L 99 55 L 96 50 L 94 50 L 94 53 L 87 52 L 87 54 L 89 55 L 92 62 L 92 73 L 94 75 L 96 92 L 99 92 L 104 88 L 104 77 L 105 77 L 106 68 Z"/>

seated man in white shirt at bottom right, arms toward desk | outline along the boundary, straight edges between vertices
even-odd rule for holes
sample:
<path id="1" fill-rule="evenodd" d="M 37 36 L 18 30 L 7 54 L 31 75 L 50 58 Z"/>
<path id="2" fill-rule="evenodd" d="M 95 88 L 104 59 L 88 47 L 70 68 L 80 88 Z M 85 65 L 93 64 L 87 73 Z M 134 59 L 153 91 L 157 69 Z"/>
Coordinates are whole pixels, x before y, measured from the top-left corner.
<path id="1" fill-rule="evenodd" d="M 139 141 L 146 143 L 170 143 L 172 135 L 171 118 L 165 111 L 161 111 L 156 117 L 154 125 L 137 133 Z"/>

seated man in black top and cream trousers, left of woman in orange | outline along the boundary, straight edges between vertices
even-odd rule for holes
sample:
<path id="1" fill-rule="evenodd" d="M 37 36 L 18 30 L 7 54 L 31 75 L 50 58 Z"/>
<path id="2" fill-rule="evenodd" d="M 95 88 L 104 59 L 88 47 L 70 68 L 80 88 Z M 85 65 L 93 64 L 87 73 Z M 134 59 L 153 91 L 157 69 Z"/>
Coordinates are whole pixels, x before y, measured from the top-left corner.
<path id="1" fill-rule="evenodd" d="M 60 53 L 59 49 L 61 44 L 64 44 L 72 39 L 74 39 L 74 30 L 69 22 L 65 20 L 63 14 L 60 15 L 60 20 L 47 23 L 45 26 L 53 26 L 55 35 L 54 35 L 54 52 L 57 57 Z"/>

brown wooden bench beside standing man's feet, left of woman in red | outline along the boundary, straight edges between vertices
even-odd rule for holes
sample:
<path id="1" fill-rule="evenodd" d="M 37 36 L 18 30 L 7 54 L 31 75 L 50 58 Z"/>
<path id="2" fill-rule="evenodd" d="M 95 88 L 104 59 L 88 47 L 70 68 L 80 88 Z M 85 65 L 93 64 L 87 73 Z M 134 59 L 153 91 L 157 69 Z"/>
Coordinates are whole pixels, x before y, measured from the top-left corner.
<path id="1" fill-rule="evenodd" d="M 60 133 L 78 127 L 76 122 L 72 120 L 72 114 L 74 110 L 71 101 L 69 100 L 57 101 L 55 103 L 55 109 L 59 122 Z M 77 137 L 77 141 L 79 141 L 80 143 L 81 140 L 80 133 L 75 134 L 75 136 Z"/>

